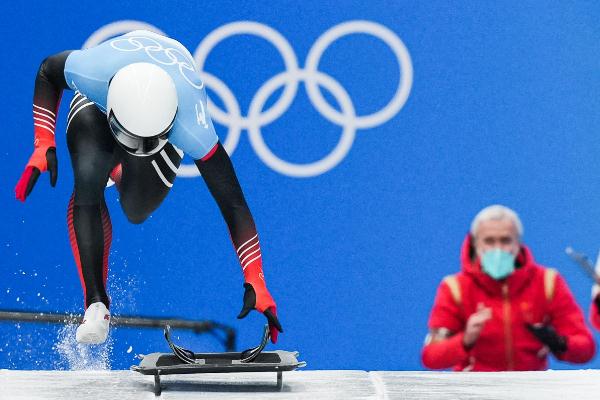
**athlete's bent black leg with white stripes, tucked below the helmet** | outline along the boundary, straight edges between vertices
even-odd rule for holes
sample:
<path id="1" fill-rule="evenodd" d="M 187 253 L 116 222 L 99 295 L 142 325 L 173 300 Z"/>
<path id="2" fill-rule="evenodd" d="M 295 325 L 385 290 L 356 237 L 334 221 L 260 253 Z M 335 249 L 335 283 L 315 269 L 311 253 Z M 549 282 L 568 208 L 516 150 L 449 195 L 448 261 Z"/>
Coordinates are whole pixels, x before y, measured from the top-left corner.
<path id="1" fill-rule="evenodd" d="M 121 179 L 118 183 L 120 203 L 125 215 L 140 224 L 158 208 L 173 186 L 182 153 L 170 144 L 158 153 L 138 157 L 119 149 Z"/>

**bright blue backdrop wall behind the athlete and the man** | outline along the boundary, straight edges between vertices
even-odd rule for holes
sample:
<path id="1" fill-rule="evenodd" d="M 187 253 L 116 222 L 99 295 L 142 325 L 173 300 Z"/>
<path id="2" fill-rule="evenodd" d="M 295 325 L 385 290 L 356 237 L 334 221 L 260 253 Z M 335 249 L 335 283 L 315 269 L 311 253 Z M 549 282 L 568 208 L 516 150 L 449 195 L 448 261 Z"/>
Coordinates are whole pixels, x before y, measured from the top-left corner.
<path id="1" fill-rule="evenodd" d="M 525 242 L 560 270 L 587 316 L 591 283 L 564 249 L 595 256 L 599 244 L 598 20 L 591 1 L 13 4 L 0 13 L 0 307 L 82 309 L 66 227 L 71 93 L 57 187 L 42 176 L 26 203 L 13 195 L 32 149 L 39 63 L 146 26 L 202 65 L 259 228 L 285 328 L 278 347 L 315 369 L 422 369 L 437 285 L 458 270 L 472 217 L 492 203 L 520 213 Z M 286 71 L 297 73 L 284 91 L 273 78 Z M 178 178 L 141 226 L 125 220 L 114 188 L 107 201 L 115 314 L 215 319 L 238 329 L 240 348 L 256 342 L 263 318 L 235 319 L 242 275 L 201 178 Z M 0 324 L 0 368 L 59 365 L 60 334 Z M 220 350 L 209 337 L 180 339 Z M 158 330 L 125 328 L 111 347 L 113 368 L 166 350 Z"/>

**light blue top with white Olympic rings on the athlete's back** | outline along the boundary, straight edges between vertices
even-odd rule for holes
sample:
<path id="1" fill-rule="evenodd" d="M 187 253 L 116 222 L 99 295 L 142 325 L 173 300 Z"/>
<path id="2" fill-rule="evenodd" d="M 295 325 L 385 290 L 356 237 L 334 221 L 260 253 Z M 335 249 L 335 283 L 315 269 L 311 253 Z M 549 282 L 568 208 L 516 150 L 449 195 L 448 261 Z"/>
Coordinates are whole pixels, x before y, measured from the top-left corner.
<path id="1" fill-rule="evenodd" d="M 73 51 L 65 64 L 65 79 L 71 89 L 106 112 L 110 79 L 119 69 L 137 62 L 161 67 L 175 82 L 178 110 L 169 142 L 194 160 L 204 157 L 219 138 L 208 113 L 204 83 L 194 59 L 178 41 L 140 30 L 90 49 Z"/>

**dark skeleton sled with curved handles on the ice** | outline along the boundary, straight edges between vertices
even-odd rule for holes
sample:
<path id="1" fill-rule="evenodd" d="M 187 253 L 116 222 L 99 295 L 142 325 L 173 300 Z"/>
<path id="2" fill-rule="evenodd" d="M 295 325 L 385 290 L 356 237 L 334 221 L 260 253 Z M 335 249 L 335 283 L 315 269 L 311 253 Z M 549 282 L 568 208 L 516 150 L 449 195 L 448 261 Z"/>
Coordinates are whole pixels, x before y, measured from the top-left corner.
<path id="1" fill-rule="evenodd" d="M 298 352 L 265 351 L 268 339 L 268 326 L 261 344 L 243 352 L 227 353 L 194 353 L 177 346 L 171 341 L 170 329 L 165 327 L 165 339 L 173 353 L 152 353 L 141 356 L 139 365 L 131 367 L 133 371 L 144 375 L 154 375 L 154 394 L 160 396 L 162 386 L 161 375 L 202 374 L 230 372 L 276 372 L 277 389 L 283 386 L 283 372 L 293 371 L 306 365 L 298 361 Z"/>

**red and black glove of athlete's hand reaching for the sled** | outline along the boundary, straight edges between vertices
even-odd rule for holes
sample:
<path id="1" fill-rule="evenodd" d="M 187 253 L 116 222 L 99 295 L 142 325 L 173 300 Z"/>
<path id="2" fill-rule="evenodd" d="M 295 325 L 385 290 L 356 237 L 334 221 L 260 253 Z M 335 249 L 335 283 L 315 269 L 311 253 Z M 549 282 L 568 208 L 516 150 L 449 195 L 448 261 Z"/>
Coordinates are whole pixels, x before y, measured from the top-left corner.
<path id="1" fill-rule="evenodd" d="M 246 283 L 244 287 L 244 306 L 238 315 L 242 319 L 248 315 L 253 309 L 261 312 L 269 322 L 269 330 L 271 332 L 271 341 L 277 342 L 277 335 L 283 332 L 283 328 L 277 318 L 277 305 L 267 290 L 261 264 L 254 263 L 244 270 Z"/>

